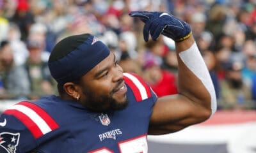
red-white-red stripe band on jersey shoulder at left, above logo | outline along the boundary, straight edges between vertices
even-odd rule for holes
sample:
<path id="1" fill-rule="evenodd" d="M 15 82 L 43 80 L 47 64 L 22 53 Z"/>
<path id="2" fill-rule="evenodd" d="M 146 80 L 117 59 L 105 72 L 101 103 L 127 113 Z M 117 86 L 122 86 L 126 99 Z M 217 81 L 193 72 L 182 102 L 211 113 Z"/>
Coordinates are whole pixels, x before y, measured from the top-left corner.
<path id="1" fill-rule="evenodd" d="M 59 128 L 58 124 L 47 112 L 28 101 L 22 101 L 13 105 L 4 113 L 19 119 L 35 138 L 39 138 Z"/>

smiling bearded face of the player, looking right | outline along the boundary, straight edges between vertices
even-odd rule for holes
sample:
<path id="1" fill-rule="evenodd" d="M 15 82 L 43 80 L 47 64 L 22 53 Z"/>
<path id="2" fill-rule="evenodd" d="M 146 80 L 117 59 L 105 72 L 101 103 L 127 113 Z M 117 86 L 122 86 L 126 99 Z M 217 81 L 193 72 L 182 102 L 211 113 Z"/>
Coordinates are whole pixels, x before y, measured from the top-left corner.
<path id="1" fill-rule="evenodd" d="M 94 112 L 122 110 L 127 104 L 127 87 L 122 68 L 114 54 L 97 64 L 81 78 L 81 103 Z"/>

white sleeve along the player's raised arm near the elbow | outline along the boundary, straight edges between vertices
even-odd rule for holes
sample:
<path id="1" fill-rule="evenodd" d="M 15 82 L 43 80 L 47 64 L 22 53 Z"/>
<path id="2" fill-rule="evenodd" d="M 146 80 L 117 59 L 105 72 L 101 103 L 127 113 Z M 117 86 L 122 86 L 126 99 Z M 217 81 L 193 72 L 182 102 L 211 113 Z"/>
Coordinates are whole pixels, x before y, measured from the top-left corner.
<path id="1" fill-rule="evenodd" d="M 211 115 L 213 115 L 217 109 L 214 85 L 212 84 L 209 70 L 207 69 L 207 66 L 198 50 L 198 47 L 196 46 L 196 43 L 194 43 L 188 50 L 180 52 L 179 56 L 184 64 L 188 66 L 188 68 L 196 75 L 196 77 L 198 77 L 202 81 L 205 88 L 211 95 Z"/>

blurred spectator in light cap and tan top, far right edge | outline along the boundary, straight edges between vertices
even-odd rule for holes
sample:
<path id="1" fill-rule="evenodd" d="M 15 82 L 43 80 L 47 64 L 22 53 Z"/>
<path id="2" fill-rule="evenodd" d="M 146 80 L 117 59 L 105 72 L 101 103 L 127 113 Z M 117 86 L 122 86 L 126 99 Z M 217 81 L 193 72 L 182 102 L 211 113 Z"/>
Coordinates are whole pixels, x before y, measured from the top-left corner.
<path id="1" fill-rule="evenodd" d="M 221 109 L 255 108 L 251 89 L 242 80 L 242 66 L 241 62 L 236 61 L 230 61 L 226 65 L 225 79 L 220 81 L 221 92 L 218 106 Z"/>

